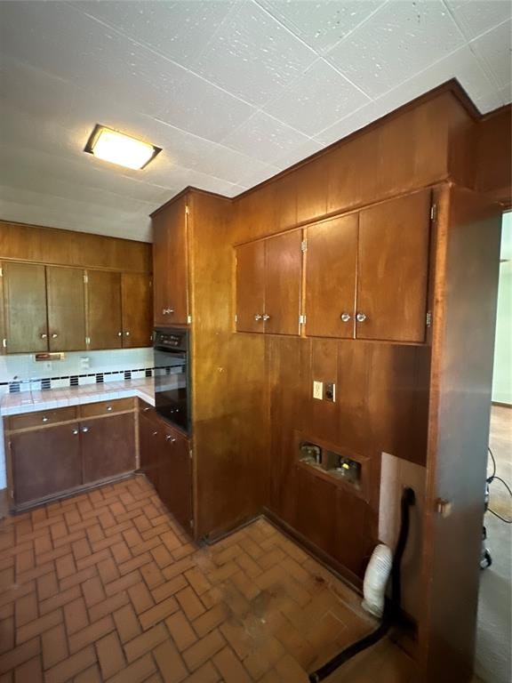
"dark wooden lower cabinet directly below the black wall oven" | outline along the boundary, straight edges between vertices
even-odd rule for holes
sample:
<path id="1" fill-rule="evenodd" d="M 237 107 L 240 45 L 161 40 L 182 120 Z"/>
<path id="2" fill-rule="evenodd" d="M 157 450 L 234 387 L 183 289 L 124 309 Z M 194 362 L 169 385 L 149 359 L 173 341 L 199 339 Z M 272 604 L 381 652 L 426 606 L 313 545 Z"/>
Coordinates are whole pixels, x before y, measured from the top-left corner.
<path id="1" fill-rule="evenodd" d="M 139 418 L 140 469 L 172 516 L 192 528 L 192 461 L 190 442 L 156 414 Z"/>

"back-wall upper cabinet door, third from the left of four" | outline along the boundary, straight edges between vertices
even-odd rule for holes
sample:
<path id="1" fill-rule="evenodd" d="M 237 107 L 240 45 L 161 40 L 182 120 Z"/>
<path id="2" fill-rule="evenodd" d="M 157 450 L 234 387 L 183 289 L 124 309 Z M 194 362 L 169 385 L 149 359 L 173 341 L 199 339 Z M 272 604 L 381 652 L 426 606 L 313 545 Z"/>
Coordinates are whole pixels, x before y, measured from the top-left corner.
<path id="1" fill-rule="evenodd" d="M 108 270 L 88 270 L 87 278 L 89 349 L 120 349 L 121 275 Z"/>

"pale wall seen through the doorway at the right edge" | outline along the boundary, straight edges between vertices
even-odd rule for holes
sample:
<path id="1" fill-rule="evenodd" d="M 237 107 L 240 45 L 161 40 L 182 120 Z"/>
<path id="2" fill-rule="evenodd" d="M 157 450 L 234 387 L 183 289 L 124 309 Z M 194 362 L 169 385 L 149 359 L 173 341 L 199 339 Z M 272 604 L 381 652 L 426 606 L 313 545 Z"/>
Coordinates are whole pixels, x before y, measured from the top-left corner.
<path id="1" fill-rule="evenodd" d="M 512 404 L 512 213 L 503 215 L 492 400 Z"/>

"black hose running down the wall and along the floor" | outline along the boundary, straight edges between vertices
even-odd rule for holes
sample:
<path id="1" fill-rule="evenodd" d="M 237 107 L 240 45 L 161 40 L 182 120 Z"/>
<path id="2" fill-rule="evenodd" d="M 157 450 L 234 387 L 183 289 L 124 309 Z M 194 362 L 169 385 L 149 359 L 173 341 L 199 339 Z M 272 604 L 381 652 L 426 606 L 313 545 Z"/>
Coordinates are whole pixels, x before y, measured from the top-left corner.
<path id="1" fill-rule="evenodd" d="M 398 534 L 398 541 L 396 542 L 393 566 L 391 567 L 391 599 L 386 600 L 384 614 L 382 615 L 382 621 L 380 622 L 380 625 L 375 629 L 375 631 L 372 631 L 367 636 L 364 636 L 364 638 L 352 643 L 352 645 L 345 647 L 345 649 L 341 650 L 338 655 L 334 655 L 332 659 L 325 663 L 324 666 L 321 666 L 320 669 L 310 673 L 310 683 L 319 683 L 319 681 L 326 679 L 327 676 L 332 674 L 332 671 L 336 671 L 336 669 L 340 668 L 341 664 L 348 662 L 349 659 L 352 659 L 352 657 L 362 652 L 367 647 L 375 645 L 375 643 L 377 643 L 388 633 L 389 627 L 395 621 L 402 598 L 400 565 L 402 564 L 405 545 L 409 535 L 409 508 L 414 505 L 414 502 L 415 495 L 412 488 L 404 488 L 401 502 L 402 519 L 400 523 L 400 532 Z"/>

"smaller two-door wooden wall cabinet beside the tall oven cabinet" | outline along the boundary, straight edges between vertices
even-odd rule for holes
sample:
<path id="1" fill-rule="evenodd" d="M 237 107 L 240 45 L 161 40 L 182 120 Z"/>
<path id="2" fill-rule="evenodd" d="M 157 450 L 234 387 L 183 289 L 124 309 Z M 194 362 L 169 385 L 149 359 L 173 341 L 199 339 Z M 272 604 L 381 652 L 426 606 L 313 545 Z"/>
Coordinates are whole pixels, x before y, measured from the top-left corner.
<path id="1" fill-rule="evenodd" d="M 302 231 L 236 247 L 236 331 L 299 334 Z"/>

